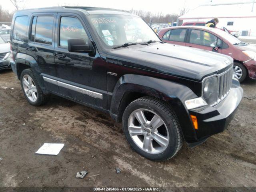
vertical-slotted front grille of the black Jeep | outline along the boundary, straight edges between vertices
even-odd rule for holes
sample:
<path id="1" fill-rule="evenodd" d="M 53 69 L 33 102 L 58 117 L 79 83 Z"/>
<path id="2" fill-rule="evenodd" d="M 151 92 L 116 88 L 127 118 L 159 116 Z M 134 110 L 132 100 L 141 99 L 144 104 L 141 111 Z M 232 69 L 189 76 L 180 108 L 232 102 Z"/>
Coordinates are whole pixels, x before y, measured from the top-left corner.
<path id="1" fill-rule="evenodd" d="M 225 71 L 224 73 L 218 75 L 219 78 L 219 94 L 218 94 L 218 102 L 224 99 L 232 86 L 232 78 L 233 78 L 233 67 Z"/>

